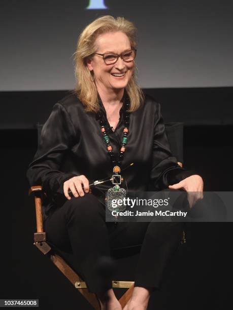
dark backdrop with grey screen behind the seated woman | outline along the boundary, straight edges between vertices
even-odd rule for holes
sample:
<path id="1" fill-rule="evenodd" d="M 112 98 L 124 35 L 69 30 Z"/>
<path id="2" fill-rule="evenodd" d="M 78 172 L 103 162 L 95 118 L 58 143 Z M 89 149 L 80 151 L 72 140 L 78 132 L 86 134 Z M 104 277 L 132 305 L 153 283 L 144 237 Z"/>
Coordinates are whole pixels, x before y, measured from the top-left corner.
<path id="1" fill-rule="evenodd" d="M 204 190 L 232 191 L 232 2 L 106 0 L 109 10 L 85 10 L 88 3 L 1 2 L 0 298 L 39 298 L 40 309 L 90 308 L 33 245 L 35 208 L 25 173 L 37 150 L 36 124 L 75 85 L 72 53 L 95 17 L 136 23 L 139 82 L 160 102 L 164 122 L 184 122 L 184 167 L 202 175 Z M 150 309 L 229 306 L 232 223 L 188 223 L 186 239 Z M 122 259 L 125 280 L 136 261 L 137 255 Z"/>

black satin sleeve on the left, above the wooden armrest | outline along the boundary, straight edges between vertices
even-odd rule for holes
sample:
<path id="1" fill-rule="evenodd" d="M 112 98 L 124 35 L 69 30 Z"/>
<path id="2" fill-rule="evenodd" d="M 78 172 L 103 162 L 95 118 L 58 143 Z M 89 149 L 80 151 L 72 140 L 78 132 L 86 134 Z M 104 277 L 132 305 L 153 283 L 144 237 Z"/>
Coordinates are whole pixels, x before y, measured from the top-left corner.
<path id="1" fill-rule="evenodd" d="M 63 182 L 76 176 L 59 170 L 76 136 L 74 125 L 61 103 L 56 103 L 44 124 L 38 149 L 27 170 L 30 186 L 42 185 L 48 197 L 63 192 Z"/>

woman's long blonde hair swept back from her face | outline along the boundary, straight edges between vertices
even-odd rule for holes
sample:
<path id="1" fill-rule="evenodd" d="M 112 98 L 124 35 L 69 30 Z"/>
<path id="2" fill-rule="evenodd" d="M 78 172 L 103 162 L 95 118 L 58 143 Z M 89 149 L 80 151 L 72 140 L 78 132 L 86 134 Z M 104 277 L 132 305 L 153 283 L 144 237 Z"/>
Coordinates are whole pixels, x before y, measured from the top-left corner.
<path id="1" fill-rule="evenodd" d="M 95 39 L 99 34 L 106 32 L 121 31 L 127 35 L 131 48 L 136 48 L 136 27 L 135 25 L 123 17 L 114 18 L 106 15 L 95 19 L 92 23 L 86 26 L 79 36 L 76 52 L 74 53 L 75 61 L 75 76 L 77 86 L 74 92 L 84 104 L 87 111 L 96 112 L 99 109 L 98 92 L 92 75 L 87 67 L 86 60 L 95 53 Z M 130 109 L 128 111 L 135 111 L 143 102 L 143 92 L 137 84 L 134 65 L 134 70 L 128 84 L 126 91 L 130 99 Z"/>

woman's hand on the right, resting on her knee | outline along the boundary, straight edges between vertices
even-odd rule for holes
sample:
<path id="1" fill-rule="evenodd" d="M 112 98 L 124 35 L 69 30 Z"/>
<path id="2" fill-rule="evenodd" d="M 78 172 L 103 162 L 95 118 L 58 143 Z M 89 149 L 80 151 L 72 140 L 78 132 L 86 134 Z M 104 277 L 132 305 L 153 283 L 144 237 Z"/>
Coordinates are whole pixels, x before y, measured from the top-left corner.
<path id="1" fill-rule="evenodd" d="M 169 185 L 171 189 L 185 189 L 188 192 L 188 202 L 190 208 L 196 203 L 197 200 L 203 199 L 203 179 L 201 176 L 194 174 L 179 183 Z"/>

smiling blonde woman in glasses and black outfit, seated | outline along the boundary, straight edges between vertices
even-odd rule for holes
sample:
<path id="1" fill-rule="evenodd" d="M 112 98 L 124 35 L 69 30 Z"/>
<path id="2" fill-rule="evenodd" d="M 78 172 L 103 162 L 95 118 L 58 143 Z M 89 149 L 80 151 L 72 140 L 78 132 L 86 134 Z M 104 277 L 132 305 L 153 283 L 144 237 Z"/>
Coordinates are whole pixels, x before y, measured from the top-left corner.
<path id="1" fill-rule="evenodd" d="M 200 176 L 177 165 L 160 106 L 144 98 L 137 85 L 135 37 L 135 26 L 120 17 L 97 18 L 83 30 L 75 53 L 77 89 L 54 105 L 27 172 L 30 185 L 42 184 L 49 200 L 44 209 L 47 240 L 60 248 L 71 245 L 80 274 L 103 309 L 121 306 L 111 279 L 98 272 L 100 258 L 110 257 L 112 248 L 142 244 L 134 292 L 124 309 L 146 309 L 183 225 L 106 223 L 103 200 L 112 184 L 92 193 L 89 184 L 111 175 L 116 165 L 122 171 L 134 163 L 122 172 L 122 187 L 203 190 Z"/>

